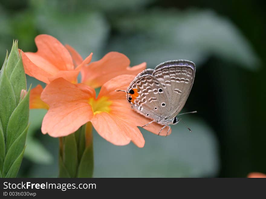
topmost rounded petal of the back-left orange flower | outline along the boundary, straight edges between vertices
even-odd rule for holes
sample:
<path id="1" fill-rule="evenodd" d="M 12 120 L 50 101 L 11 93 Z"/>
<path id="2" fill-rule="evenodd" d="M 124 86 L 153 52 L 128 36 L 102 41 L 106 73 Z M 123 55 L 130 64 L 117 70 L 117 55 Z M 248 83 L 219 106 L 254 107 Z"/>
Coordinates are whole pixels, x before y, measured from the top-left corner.
<path id="1" fill-rule="evenodd" d="M 69 51 L 56 38 L 50 35 L 38 35 L 35 37 L 35 43 L 38 48 L 36 54 L 49 61 L 55 68 L 62 71 L 74 70 Z"/>

